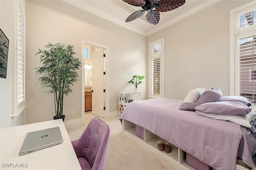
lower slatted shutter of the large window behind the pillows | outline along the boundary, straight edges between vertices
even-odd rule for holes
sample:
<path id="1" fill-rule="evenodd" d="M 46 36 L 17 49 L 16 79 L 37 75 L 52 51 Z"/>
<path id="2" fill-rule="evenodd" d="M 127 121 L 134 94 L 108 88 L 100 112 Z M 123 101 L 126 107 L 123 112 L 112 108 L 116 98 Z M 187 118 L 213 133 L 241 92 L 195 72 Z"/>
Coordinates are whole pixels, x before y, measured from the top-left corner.
<path id="1" fill-rule="evenodd" d="M 256 103 L 256 35 L 240 39 L 239 58 L 240 96 Z"/>

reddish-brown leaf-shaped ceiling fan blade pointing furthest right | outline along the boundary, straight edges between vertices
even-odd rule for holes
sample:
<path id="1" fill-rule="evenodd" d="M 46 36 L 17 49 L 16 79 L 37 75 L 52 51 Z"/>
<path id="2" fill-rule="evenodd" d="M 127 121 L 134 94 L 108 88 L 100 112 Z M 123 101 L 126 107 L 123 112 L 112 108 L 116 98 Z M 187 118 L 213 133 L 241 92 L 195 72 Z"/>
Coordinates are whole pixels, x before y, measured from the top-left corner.
<path id="1" fill-rule="evenodd" d="M 156 4 L 156 10 L 159 12 L 167 12 L 176 9 L 183 4 L 185 4 L 185 0 L 160 0 L 160 2 Z"/>

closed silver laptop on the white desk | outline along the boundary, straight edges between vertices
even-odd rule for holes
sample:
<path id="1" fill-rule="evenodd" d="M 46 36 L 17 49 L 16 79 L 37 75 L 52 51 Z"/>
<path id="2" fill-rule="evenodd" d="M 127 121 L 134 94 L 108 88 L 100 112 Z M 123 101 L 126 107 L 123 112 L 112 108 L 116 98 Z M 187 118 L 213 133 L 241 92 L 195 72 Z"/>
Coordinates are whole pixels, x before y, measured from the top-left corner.
<path id="1" fill-rule="evenodd" d="M 52 147 L 63 142 L 60 127 L 52 127 L 26 134 L 19 155 Z"/>

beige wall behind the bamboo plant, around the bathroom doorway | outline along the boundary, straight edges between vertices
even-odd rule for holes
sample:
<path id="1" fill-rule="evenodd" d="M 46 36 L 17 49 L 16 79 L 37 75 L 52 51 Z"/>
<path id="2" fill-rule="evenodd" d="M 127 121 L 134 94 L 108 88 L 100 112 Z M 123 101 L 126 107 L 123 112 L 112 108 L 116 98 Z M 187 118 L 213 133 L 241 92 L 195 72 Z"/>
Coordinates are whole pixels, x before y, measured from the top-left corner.
<path id="1" fill-rule="evenodd" d="M 54 97 L 38 83 L 35 68 L 41 66 L 35 54 L 50 43 L 74 45 L 81 59 L 81 40 L 106 45 L 110 49 L 110 112 L 118 110 L 118 92 L 132 91 L 128 81 L 134 74 L 146 75 L 146 37 L 111 23 L 63 1 L 26 1 L 26 123 L 51 120 Z M 81 75 L 72 94 L 64 96 L 65 120 L 81 117 Z M 146 98 L 146 86 L 141 86 Z M 75 116 L 71 117 L 70 112 Z"/>

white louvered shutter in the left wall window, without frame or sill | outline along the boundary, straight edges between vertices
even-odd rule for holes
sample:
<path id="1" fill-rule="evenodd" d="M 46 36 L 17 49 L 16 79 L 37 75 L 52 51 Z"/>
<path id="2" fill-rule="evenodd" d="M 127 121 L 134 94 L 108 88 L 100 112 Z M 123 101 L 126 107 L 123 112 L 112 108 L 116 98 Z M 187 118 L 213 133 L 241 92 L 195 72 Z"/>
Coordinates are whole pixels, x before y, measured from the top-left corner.
<path id="1" fill-rule="evenodd" d="M 24 101 L 24 73 L 25 73 L 25 16 L 24 9 L 22 8 L 24 2 L 19 1 L 18 4 L 18 42 L 17 42 L 17 102 L 20 104 Z"/>

